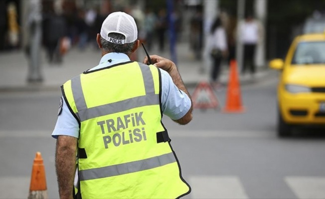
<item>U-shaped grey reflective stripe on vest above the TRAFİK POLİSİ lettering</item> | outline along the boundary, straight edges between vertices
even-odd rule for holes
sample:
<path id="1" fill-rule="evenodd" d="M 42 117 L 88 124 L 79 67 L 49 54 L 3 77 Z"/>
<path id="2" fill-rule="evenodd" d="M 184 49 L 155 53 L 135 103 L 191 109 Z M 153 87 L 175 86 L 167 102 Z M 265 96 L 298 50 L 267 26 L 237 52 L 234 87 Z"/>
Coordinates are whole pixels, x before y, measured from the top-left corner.
<path id="1" fill-rule="evenodd" d="M 146 96 L 135 97 L 115 103 L 104 104 L 92 108 L 87 108 L 85 97 L 81 88 L 80 75 L 71 80 L 72 93 L 75 99 L 78 112 L 76 113 L 80 121 L 85 121 L 95 117 L 108 115 L 131 108 L 141 107 L 145 105 L 158 105 L 159 95 L 155 95 L 154 79 L 150 68 L 145 65 L 139 65 L 146 89 Z"/>

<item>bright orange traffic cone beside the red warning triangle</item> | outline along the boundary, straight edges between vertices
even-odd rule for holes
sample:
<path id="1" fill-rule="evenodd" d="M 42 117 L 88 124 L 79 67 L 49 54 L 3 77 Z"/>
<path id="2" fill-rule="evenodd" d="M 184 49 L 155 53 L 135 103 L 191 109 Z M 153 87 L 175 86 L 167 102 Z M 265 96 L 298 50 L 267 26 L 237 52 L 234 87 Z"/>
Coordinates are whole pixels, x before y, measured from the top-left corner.
<path id="1" fill-rule="evenodd" d="M 241 103 L 240 85 L 237 74 L 236 60 L 230 61 L 229 84 L 227 90 L 226 106 L 224 112 L 243 112 L 244 107 Z"/>

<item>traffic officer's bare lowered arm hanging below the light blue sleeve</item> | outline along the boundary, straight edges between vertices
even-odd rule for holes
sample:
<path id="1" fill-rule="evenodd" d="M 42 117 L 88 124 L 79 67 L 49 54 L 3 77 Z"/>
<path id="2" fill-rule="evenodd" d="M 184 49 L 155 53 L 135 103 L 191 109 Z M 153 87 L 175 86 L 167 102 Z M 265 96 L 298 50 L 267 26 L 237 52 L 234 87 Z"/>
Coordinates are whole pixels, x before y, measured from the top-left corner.
<path id="1" fill-rule="evenodd" d="M 56 141 L 55 168 L 60 199 L 72 199 L 76 170 L 77 138 L 59 135 Z"/>

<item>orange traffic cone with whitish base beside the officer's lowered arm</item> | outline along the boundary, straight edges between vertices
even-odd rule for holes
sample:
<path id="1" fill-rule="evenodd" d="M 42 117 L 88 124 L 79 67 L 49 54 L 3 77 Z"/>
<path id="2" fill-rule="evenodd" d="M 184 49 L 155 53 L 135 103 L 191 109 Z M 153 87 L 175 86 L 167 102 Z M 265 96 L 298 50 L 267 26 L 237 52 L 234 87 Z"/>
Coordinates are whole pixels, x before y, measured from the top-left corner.
<path id="1" fill-rule="evenodd" d="M 45 169 L 40 152 L 37 152 L 34 158 L 28 199 L 48 199 Z"/>

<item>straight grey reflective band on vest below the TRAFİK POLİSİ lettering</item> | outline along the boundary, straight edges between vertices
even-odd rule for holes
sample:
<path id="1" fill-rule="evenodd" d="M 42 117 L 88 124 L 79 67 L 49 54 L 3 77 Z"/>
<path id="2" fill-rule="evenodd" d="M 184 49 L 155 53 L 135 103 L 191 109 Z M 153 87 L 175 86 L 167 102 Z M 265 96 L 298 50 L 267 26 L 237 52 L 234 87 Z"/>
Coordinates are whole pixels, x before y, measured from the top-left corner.
<path id="1" fill-rule="evenodd" d="M 118 176 L 123 174 L 129 174 L 133 172 L 144 171 L 147 169 L 154 169 L 166 164 L 176 162 L 173 153 L 163 154 L 161 156 L 148 158 L 145 160 L 139 160 L 134 162 L 128 162 L 119 165 L 112 165 L 108 167 L 102 167 L 97 169 L 87 169 L 79 172 L 80 181 L 93 180 L 99 178 L 106 178 L 112 176 Z"/>

